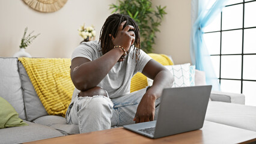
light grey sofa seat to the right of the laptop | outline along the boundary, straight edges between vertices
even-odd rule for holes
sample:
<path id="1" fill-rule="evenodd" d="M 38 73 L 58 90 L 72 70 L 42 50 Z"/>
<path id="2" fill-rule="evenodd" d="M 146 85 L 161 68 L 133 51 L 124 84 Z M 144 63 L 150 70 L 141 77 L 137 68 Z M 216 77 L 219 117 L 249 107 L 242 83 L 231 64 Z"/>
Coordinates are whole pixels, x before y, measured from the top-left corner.
<path id="1" fill-rule="evenodd" d="M 256 107 L 209 101 L 206 121 L 256 131 Z"/>

